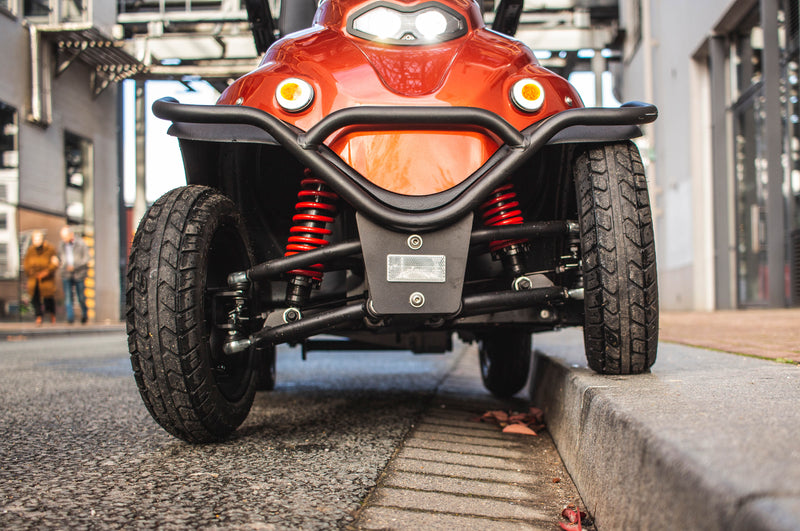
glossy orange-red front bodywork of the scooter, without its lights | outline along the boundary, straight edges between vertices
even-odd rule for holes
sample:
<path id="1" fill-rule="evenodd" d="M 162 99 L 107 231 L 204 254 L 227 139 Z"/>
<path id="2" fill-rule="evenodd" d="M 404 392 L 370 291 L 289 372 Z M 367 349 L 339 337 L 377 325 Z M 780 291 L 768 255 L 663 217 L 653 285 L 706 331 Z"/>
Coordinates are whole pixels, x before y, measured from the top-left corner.
<path id="1" fill-rule="evenodd" d="M 430 0 L 395 0 L 414 6 Z M 467 33 L 430 45 L 397 46 L 350 35 L 347 20 L 374 0 L 326 0 L 313 28 L 273 44 L 258 69 L 236 81 L 220 104 L 248 105 L 308 130 L 330 113 L 363 105 L 464 106 L 487 109 L 522 130 L 562 110 L 581 106 L 566 80 L 539 66 L 521 42 L 485 28 L 474 0 L 441 0 L 467 21 Z M 291 113 L 278 106 L 275 89 L 298 77 L 314 88 L 315 100 Z M 545 102 L 535 113 L 517 109 L 513 84 L 539 81 Z M 376 185 L 400 194 L 426 195 L 466 179 L 498 147 L 488 134 L 443 126 L 441 130 L 396 125 L 383 130 L 354 128 L 326 142 Z"/>

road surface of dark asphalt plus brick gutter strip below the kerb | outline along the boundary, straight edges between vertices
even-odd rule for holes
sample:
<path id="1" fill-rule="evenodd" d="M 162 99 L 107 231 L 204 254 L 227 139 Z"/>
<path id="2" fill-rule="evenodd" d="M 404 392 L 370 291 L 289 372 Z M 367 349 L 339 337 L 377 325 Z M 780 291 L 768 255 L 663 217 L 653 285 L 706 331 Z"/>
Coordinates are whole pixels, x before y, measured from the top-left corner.
<path id="1" fill-rule="evenodd" d="M 231 440 L 193 446 L 150 418 L 123 334 L 0 342 L 0 528 L 557 528 L 577 493 L 549 436 L 506 440 L 469 407 L 440 409 L 489 407 L 474 355 L 279 348 L 275 391 Z M 484 462 L 497 470 L 463 466 Z"/>

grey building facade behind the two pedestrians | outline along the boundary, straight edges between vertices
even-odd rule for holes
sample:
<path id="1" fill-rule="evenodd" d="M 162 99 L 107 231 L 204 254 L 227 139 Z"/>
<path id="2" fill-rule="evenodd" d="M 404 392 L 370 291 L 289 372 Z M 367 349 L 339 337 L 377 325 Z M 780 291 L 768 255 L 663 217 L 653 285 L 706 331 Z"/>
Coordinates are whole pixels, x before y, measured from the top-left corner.
<path id="1" fill-rule="evenodd" d="M 0 0 L 0 312 L 25 312 L 31 231 L 90 247 L 89 317 L 120 318 L 118 101 L 135 69 L 108 37 L 114 2 Z M 126 66 L 127 65 L 127 66 Z M 57 296 L 59 312 L 63 298 Z"/>

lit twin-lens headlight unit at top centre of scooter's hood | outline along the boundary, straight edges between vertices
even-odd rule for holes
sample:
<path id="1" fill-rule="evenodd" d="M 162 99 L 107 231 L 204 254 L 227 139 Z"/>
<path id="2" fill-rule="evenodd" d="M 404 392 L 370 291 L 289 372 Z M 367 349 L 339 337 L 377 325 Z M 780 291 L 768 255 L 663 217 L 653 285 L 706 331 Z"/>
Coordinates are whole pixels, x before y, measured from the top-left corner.
<path id="1" fill-rule="evenodd" d="M 467 21 L 438 2 L 411 7 L 376 2 L 354 13 L 347 20 L 347 31 L 370 41 L 418 46 L 465 35 Z"/>

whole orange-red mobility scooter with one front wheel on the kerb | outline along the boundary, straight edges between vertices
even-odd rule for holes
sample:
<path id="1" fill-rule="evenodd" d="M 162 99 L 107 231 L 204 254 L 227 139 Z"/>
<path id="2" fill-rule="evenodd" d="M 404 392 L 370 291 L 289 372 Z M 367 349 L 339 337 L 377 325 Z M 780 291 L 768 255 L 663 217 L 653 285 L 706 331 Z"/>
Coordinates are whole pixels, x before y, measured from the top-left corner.
<path id="1" fill-rule="evenodd" d="M 489 29 L 476 0 L 322 0 L 278 40 L 257 3 L 255 70 L 216 105 L 153 105 L 188 182 L 150 207 L 127 273 L 131 362 L 159 424 L 229 436 L 283 343 L 446 352 L 457 334 L 500 397 L 524 387 L 531 335 L 561 327 L 583 327 L 599 373 L 650 368 L 655 245 L 632 139 L 653 105 L 585 108 L 504 34 L 521 1 Z"/>

